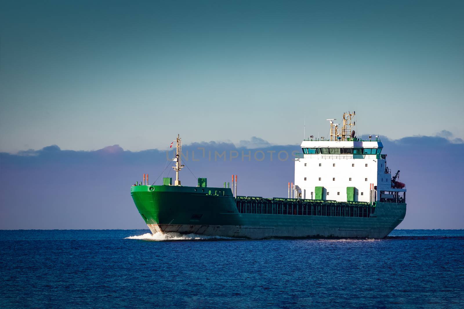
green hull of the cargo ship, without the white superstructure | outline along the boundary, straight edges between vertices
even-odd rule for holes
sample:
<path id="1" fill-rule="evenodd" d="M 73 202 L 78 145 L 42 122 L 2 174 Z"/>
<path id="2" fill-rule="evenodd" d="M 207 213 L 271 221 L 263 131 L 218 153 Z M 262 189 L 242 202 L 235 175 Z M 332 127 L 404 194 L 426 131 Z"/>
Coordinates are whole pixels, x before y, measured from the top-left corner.
<path id="1" fill-rule="evenodd" d="M 377 202 L 375 207 L 369 207 L 361 202 L 261 198 L 241 201 L 232 196 L 231 189 L 224 188 L 143 185 L 132 186 L 131 195 L 152 233 L 251 239 L 384 238 L 406 214 L 405 203 Z M 250 206 L 244 207 L 247 201 Z"/>

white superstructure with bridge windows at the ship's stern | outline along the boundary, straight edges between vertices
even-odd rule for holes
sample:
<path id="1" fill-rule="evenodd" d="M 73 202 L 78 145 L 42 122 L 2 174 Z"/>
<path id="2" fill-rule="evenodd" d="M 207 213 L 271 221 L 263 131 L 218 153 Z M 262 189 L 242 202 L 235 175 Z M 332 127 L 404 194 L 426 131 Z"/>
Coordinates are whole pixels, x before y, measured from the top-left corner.
<path id="1" fill-rule="evenodd" d="M 330 140 L 312 137 L 303 140 L 303 154 L 295 158 L 292 195 L 338 202 L 376 202 L 381 198 L 394 198 L 399 202 L 398 199 L 404 199 L 404 193 L 398 193 L 406 189 L 392 188 L 392 175 L 386 166 L 387 155 L 382 153 L 380 139 L 357 139 L 354 131 L 347 137 L 336 133 L 338 125 L 332 120 L 330 124 L 333 132 Z M 344 128 L 342 132 L 346 134 L 349 129 Z M 351 196 L 347 193 L 350 190 Z"/>

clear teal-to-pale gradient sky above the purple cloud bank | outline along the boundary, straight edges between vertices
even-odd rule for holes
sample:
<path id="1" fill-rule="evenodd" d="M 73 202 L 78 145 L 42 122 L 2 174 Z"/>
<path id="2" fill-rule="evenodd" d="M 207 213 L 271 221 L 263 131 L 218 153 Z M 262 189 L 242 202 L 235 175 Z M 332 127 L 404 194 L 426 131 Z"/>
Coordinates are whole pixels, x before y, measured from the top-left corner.
<path id="1" fill-rule="evenodd" d="M 2 1 L 0 149 L 464 138 L 463 1 Z M 178 117 L 178 118 L 177 118 Z"/>

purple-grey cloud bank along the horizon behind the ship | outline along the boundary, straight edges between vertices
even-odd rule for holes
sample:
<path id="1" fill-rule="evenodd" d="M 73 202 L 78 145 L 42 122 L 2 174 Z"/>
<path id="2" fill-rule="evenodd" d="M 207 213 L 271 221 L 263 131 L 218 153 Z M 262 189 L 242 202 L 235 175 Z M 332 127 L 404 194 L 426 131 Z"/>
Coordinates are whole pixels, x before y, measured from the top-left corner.
<path id="1" fill-rule="evenodd" d="M 457 155 L 464 152 L 464 144 L 441 136 L 381 139 L 388 167 L 401 170 L 408 189 L 408 210 L 400 227 L 464 228 L 460 197 L 464 164 Z M 181 181 L 194 186 L 196 177 L 207 177 L 208 184 L 222 187 L 236 174 L 239 195 L 286 196 L 294 173 L 292 151 L 301 148 L 271 145 L 258 137 L 240 146 L 214 141 L 186 144 L 183 162 L 189 169 L 182 170 Z M 0 229 L 144 228 L 130 185 L 142 181 L 143 173 L 149 174 L 150 183 L 174 177 L 169 167 L 173 152 L 127 151 L 119 145 L 96 151 L 51 145 L 2 152 Z"/>

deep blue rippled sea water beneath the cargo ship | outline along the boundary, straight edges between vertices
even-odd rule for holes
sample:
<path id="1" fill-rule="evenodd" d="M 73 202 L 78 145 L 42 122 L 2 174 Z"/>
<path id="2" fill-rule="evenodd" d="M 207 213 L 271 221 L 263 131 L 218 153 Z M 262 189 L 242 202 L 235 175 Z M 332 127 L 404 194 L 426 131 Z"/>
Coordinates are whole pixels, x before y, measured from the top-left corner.
<path id="1" fill-rule="evenodd" d="M 0 248 L 1 308 L 464 308 L 464 230 L 384 240 L 3 230 Z"/>

